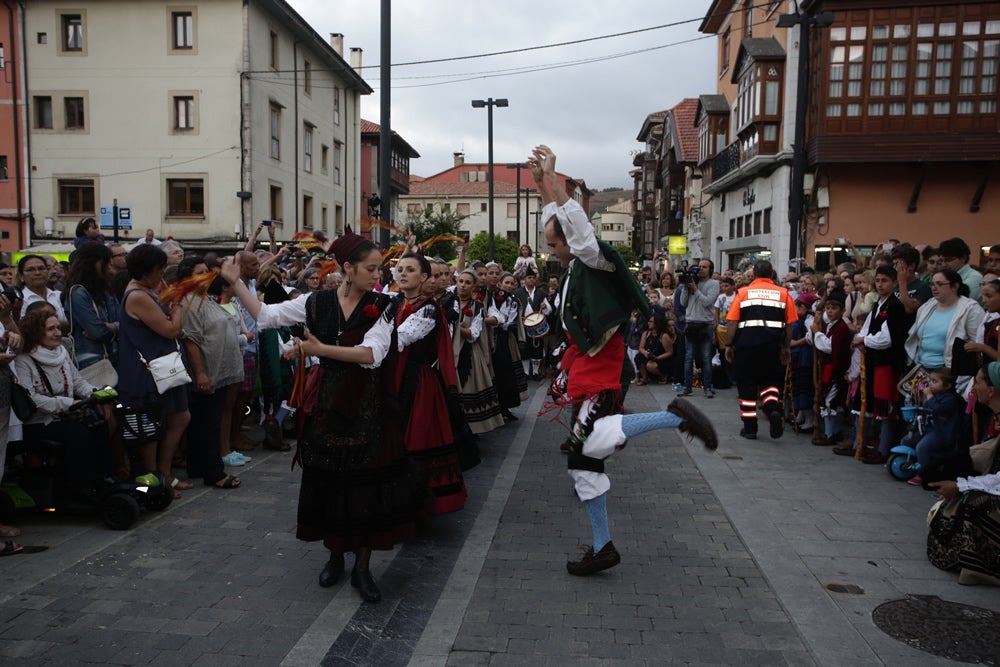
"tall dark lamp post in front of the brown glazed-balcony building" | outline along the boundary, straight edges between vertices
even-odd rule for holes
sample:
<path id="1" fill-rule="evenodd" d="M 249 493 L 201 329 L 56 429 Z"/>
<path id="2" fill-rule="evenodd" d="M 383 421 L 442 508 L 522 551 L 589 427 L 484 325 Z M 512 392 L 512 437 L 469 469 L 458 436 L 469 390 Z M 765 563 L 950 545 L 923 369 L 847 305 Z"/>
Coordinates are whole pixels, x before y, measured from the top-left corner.
<path id="1" fill-rule="evenodd" d="M 792 191 L 788 195 L 788 259 L 799 256 L 799 237 L 802 234 L 802 209 L 805 196 L 802 188 L 806 175 L 806 111 L 809 108 L 809 32 L 810 28 L 825 28 L 833 23 L 833 14 L 804 13 L 782 14 L 778 17 L 779 28 L 799 26 L 799 68 L 795 86 L 795 135 L 792 139 Z M 801 268 L 801 267 L 800 267 Z"/>

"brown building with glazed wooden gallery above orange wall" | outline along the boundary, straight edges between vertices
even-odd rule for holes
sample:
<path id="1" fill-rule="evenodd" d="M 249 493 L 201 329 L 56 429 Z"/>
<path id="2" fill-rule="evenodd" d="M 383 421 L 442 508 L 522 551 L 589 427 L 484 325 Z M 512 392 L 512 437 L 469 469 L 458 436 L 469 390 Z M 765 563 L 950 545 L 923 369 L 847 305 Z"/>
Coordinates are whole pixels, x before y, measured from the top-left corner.
<path id="1" fill-rule="evenodd" d="M 821 1 L 810 52 L 808 224 L 846 238 L 1000 241 L 1000 3 Z"/>

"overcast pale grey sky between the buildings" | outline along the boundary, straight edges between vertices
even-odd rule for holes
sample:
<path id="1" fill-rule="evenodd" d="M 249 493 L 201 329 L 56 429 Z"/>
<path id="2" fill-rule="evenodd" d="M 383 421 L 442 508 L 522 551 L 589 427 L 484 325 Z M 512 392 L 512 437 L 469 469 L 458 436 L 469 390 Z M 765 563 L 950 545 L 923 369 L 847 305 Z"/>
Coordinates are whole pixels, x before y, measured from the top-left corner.
<path id="1" fill-rule="evenodd" d="M 379 64 L 378 0 L 288 0 L 323 37 L 344 34 L 345 56 L 364 49 L 363 64 Z M 394 0 L 392 62 L 455 58 L 523 49 L 690 21 L 676 27 L 584 44 L 459 62 L 393 68 L 392 129 L 421 157 L 411 173 L 449 168 L 452 153 L 487 160 L 487 114 L 473 99 L 506 97 L 494 109 L 494 161 L 518 162 L 538 143 L 558 156 L 563 173 L 592 189 L 631 187 L 631 152 L 646 115 L 685 97 L 715 92 L 716 42 L 698 32 L 709 0 Z M 701 39 L 699 39 L 701 38 Z M 679 44 L 686 40 L 695 40 Z M 539 67 L 654 49 L 547 71 L 492 76 L 489 72 Z M 349 57 L 349 56 L 348 56 Z M 467 79 L 443 85 L 442 75 Z M 362 115 L 379 122 L 379 70 L 364 70 L 375 93 L 362 98 Z M 418 78 L 419 77 L 419 78 Z"/>

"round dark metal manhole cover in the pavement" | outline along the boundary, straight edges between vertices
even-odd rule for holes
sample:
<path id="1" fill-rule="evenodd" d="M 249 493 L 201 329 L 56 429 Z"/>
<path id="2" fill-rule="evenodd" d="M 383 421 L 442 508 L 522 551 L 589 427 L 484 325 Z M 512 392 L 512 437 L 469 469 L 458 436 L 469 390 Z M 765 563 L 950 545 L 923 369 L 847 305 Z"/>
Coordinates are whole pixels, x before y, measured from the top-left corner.
<path id="1" fill-rule="evenodd" d="M 875 608 L 882 632 L 913 648 L 960 662 L 1000 665 L 1000 614 L 936 595 L 908 595 Z"/>

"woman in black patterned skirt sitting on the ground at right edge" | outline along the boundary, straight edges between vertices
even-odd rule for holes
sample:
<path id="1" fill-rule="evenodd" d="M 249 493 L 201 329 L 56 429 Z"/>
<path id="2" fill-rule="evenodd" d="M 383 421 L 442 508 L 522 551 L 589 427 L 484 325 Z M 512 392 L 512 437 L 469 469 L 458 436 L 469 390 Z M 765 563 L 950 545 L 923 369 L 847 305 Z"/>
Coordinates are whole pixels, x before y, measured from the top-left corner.
<path id="1" fill-rule="evenodd" d="M 939 272 L 940 273 L 940 272 Z M 937 280 L 935 277 L 934 280 Z M 945 503 L 930 521 L 927 558 L 942 570 L 958 570 L 958 583 L 1000 585 L 1000 362 L 976 373 L 976 401 L 993 413 L 994 437 L 970 450 L 975 474 L 932 482 Z"/>

